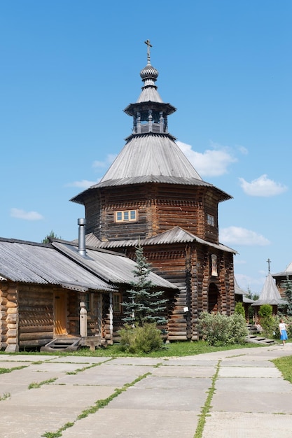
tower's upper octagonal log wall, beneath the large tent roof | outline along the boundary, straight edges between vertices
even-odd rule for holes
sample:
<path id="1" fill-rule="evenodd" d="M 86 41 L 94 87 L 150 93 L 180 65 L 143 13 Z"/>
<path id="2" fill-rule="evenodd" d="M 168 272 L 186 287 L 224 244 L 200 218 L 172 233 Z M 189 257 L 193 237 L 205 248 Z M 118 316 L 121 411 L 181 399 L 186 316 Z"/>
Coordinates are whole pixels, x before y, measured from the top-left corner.
<path id="1" fill-rule="evenodd" d="M 218 193 L 204 186 L 127 185 L 92 190 L 85 199 L 87 232 L 100 240 L 141 239 L 180 226 L 218 243 Z M 137 222 L 115 222 L 114 213 L 137 210 Z M 207 224 L 214 216 L 214 226 Z"/>

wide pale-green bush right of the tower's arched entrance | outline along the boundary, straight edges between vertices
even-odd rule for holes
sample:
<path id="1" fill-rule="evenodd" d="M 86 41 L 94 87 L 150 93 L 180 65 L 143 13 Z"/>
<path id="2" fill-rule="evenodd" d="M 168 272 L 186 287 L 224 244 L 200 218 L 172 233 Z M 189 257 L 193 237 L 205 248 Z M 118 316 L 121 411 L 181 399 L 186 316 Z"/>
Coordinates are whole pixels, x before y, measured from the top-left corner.
<path id="1" fill-rule="evenodd" d="M 199 330 L 211 346 L 242 344 L 248 334 L 245 318 L 238 313 L 225 316 L 221 313 L 202 312 Z"/>

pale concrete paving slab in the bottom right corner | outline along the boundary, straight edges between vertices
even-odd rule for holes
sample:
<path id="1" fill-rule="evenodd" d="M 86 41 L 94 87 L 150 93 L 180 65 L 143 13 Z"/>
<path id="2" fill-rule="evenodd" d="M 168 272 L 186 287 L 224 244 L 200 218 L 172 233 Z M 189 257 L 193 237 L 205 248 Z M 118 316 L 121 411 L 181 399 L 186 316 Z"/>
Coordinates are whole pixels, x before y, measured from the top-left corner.
<path id="1" fill-rule="evenodd" d="M 292 416 L 212 412 L 202 438 L 291 438 Z"/>

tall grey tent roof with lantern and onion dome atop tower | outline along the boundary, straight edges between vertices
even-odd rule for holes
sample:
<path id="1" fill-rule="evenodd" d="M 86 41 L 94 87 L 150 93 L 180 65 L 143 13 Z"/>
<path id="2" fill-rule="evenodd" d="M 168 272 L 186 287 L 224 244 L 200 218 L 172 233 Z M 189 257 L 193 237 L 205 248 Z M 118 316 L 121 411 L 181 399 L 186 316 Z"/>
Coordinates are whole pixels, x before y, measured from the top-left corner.
<path id="1" fill-rule="evenodd" d="M 177 146 L 175 137 L 168 132 L 168 115 L 176 108 L 162 101 L 155 82 L 158 71 L 148 63 L 140 73 L 144 83 L 135 104 L 125 108 L 133 118 L 132 134 L 127 137 L 123 150 L 102 178 L 71 201 L 83 204 L 91 190 L 145 183 L 204 186 L 214 190 L 218 201 L 232 197 L 202 180 L 200 175 Z"/>

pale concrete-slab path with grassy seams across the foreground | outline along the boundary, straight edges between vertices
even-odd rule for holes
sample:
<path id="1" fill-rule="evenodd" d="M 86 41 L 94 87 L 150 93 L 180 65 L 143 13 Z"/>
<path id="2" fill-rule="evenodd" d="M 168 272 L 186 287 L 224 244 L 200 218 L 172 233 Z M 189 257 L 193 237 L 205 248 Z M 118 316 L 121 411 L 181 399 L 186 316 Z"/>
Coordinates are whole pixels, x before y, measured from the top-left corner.
<path id="1" fill-rule="evenodd" d="M 291 438 L 292 385 L 270 362 L 284 355 L 292 344 L 164 359 L 3 354 L 14 369 L 0 374 L 0 437 L 193 438 L 214 388 L 203 438 Z"/>

